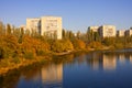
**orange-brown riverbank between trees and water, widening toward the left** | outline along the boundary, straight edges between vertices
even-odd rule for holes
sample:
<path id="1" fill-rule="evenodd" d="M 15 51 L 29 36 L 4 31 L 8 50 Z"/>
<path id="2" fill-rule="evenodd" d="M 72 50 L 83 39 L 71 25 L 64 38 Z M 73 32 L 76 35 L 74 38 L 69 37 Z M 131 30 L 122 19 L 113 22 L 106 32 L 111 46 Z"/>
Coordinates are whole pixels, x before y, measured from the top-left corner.
<path id="1" fill-rule="evenodd" d="M 74 53 L 79 53 L 79 52 L 94 52 L 94 51 L 116 51 L 117 48 L 111 48 L 111 47 L 102 47 L 102 48 L 87 48 L 87 50 L 78 50 L 78 51 L 68 51 L 68 52 L 64 52 L 64 53 L 50 53 L 45 56 L 38 56 L 36 58 L 33 59 L 25 59 L 25 58 L 20 58 L 20 63 L 9 63 L 8 59 L 1 59 L 0 64 L 0 75 L 3 75 L 12 69 L 18 69 L 20 67 L 24 67 L 28 65 L 32 65 L 34 63 L 42 63 L 42 62 L 47 62 L 51 61 L 53 58 L 53 56 L 62 56 L 62 55 L 67 55 L 67 54 L 74 54 Z M 120 48 L 123 50 L 123 48 Z"/>

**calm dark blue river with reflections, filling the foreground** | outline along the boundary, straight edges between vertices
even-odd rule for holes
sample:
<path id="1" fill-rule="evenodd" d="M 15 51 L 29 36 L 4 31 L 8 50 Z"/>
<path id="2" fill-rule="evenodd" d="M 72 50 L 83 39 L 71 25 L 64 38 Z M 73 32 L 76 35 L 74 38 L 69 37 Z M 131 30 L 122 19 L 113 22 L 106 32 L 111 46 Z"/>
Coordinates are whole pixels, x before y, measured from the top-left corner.
<path id="1" fill-rule="evenodd" d="M 0 76 L 0 88 L 132 88 L 132 50 L 54 56 Z"/>

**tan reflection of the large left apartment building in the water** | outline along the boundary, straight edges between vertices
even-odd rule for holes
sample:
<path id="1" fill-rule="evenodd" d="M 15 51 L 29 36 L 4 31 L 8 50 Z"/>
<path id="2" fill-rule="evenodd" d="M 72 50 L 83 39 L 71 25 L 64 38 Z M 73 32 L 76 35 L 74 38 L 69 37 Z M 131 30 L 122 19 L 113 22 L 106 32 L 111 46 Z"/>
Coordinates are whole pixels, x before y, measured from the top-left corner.
<path id="1" fill-rule="evenodd" d="M 63 64 L 51 64 L 42 68 L 42 84 L 44 88 L 63 87 Z"/>

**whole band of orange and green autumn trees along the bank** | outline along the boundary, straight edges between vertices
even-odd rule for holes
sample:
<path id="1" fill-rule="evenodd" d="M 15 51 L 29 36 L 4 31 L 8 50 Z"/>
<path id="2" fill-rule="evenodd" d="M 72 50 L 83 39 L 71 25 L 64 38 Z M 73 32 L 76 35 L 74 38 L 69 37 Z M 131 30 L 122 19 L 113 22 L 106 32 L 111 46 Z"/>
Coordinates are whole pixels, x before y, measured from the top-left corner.
<path id="1" fill-rule="evenodd" d="M 80 33 L 78 31 L 75 34 L 72 31 L 63 30 L 63 40 L 56 40 L 0 22 L 0 59 L 4 59 L 2 61 L 3 66 L 8 64 L 6 61 L 21 63 L 23 59 L 33 59 L 51 53 L 128 46 L 132 46 L 132 36 L 102 38 L 95 32 Z"/>

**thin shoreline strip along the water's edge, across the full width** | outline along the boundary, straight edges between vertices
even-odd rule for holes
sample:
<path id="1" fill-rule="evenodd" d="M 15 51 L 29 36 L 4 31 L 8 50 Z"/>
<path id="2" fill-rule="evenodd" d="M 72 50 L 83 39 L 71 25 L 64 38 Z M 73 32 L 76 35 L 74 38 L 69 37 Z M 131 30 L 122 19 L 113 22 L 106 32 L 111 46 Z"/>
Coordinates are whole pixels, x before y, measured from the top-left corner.
<path id="1" fill-rule="evenodd" d="M 2 68 L 0 68 L 0 75 L 4 75 L 9 70 L 19 69 L 20 67 L 25 67 L 25 66 L 32 65 L 34 63 L 41 63 L 41 62 L 51 61 L 51 58 L 53 56 L 63 56 L 63 55 L 74 54 L 74 53 L 77 53 L 77 52 L 89 53 L 89 52 L 96 52 L 96 51 L 117 51 L 117 50 L 129 50 L 129 47 L 128 48 L 114 48 L 114 50 L 110 50 L 110 48 L 101 48 L 101 50 L 90 48 L 90 50 L 69 51 L 69 52 L 64 52 L 64 53 L 54 53 L 54 54 L 52 53 L 51 55 L 36 57 L 34 59 L 24 59 L 20 64 L 13 64 L 12 66 L 2 67 Z"/>

